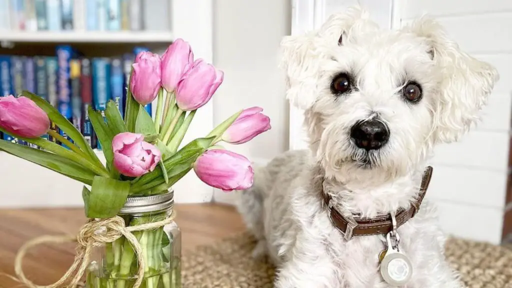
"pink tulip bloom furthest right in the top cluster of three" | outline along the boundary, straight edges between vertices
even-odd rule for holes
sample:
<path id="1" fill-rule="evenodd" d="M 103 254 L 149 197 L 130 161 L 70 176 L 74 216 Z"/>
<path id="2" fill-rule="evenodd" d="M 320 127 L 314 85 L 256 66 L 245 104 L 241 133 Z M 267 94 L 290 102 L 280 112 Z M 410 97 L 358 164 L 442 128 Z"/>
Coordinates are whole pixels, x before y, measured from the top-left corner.
<path id="1" fill-rule="evenodd" d="M 200 108 L 214 95 L 224 80 L 224 73 L 203 59 L 194 62 L 176 88 L 176 104 L 183 111 Z"/>

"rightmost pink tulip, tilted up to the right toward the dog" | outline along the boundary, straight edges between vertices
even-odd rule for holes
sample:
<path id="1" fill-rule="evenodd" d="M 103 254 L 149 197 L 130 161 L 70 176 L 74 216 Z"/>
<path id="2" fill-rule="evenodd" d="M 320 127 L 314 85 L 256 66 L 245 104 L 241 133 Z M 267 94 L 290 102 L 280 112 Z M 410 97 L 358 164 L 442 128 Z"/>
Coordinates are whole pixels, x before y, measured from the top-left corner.
<path id="1" fill-rule="evenodd" d="M 222 140 L 232 144 L 242 144 L 269 130 L 270 118 L 260 107 L 245 109 L 233 124 L 224 132 Z"/>

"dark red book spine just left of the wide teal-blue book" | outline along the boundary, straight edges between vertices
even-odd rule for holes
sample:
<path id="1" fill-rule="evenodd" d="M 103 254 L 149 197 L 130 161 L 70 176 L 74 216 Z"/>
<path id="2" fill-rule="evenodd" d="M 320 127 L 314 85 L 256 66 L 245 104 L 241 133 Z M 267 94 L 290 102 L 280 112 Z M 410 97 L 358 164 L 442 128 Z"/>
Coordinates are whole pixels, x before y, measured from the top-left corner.
<path id="1" fill-rule="evenodd" d="M 86 138 L 87 143 L 94 149 L 95 141 L 93 137 L 93 126 L 89 119 L 89 107 L 93 105 L 92 94 L 92 75 L 91 75 L 91 61 L 87 58 L 82 58 L 81 73 L 80 73 L 80 96 L 82 98 L 82 133 Z"/>

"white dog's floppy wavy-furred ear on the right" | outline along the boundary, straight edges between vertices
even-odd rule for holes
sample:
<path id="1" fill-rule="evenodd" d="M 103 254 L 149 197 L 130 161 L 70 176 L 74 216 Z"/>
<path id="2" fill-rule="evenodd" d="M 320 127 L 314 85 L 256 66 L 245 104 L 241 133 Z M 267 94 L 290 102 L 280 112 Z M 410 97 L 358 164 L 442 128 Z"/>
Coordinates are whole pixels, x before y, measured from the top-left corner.
<path id="1" fill-rule="evenodd" d="M 498 72 L 461 51 L 431 18 L 424 16 L 405 29 L 426 39 L 431 49 L 425 52 L 431 54 L 436 70 L 441 73 L 434 107 L 435 140 L 457 141 L 479 120 L 479 112 L 499 79 Z"/>

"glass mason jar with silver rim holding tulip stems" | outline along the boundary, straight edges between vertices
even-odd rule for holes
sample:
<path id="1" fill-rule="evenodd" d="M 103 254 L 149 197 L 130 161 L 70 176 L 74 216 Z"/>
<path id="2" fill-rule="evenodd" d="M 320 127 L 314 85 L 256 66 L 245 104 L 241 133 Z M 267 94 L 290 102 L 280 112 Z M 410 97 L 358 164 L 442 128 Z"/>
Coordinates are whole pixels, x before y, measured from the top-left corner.
<path id="1" fill-rule="evenodd" d="M 128 198 L 119 216 L 127 226 L 157 222 L 174 207 L 174 192 Z M 181 233 L 173 221 L 153 230 L 133 232 L 142 248 L 145 269 L 141 288 L 181 288 Z M 87 270 L 88 288 L 131 288 L 139 265 L 132 245 L 124 237 L 94 248 Z"/>

